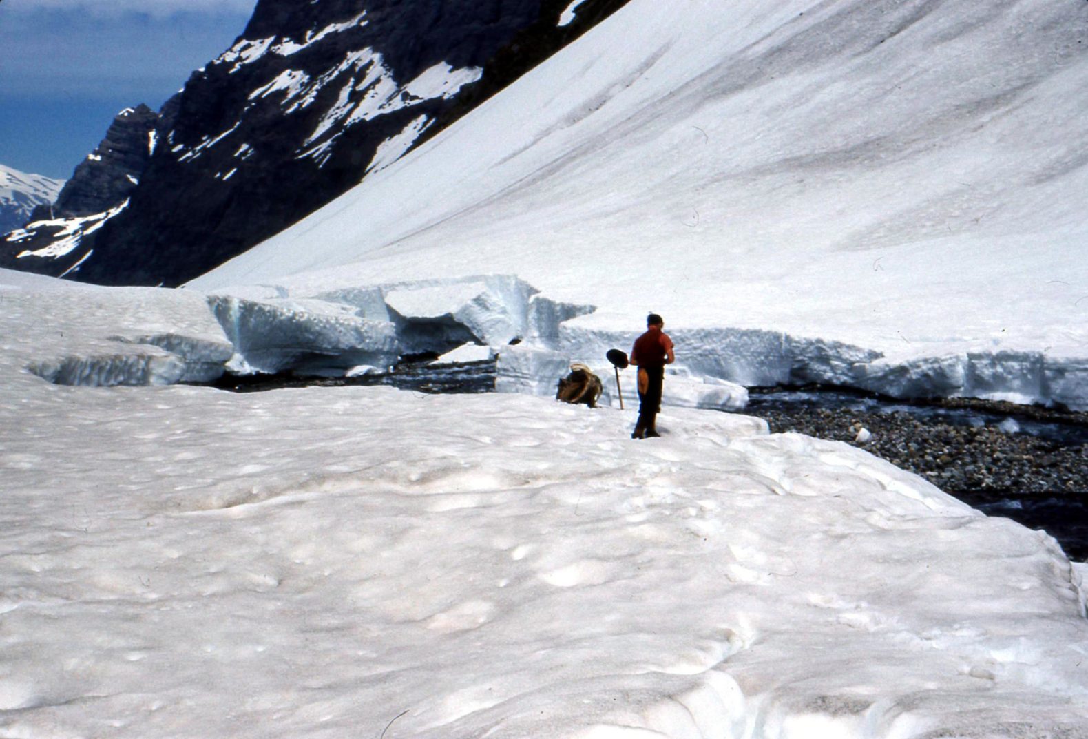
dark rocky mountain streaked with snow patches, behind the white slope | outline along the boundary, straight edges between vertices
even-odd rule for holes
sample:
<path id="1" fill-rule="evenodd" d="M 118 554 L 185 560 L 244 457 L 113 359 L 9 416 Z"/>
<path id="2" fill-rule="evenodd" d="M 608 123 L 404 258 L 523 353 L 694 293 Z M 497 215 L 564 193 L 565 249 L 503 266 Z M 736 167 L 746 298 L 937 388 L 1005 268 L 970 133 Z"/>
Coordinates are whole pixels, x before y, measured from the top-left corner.
<path id="1" fill-rule="evenodd" d="M 0 266 L 181 284 L 388 165 L 626 1 L 583 0 L 560 25 L 570 0 L 260 0 L 158 114 L 137 109 L 153 126 L 138 171 L 120 182 L 81 164 L 57 205 L 85 220 L 15 232 Z M 135 153 L 108 135 L 95 156 Z"/>

